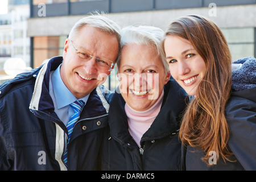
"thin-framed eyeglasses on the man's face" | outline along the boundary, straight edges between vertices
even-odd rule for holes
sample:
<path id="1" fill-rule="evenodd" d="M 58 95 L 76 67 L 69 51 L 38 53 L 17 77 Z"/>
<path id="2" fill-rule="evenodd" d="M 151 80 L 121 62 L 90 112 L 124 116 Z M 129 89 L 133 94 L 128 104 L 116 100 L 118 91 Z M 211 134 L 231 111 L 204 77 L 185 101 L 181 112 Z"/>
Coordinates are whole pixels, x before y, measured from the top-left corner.
<path id="1" fill-rule="evenodd" d="M 81 59 L 84 59 L 85 61 L 89 61 L 90 59 L 92 59 L 92 57 L 95 57 L 95 56 L 92 56 L 92 53 L 90 53 L 89 51 L 83 51 L 83 52 L 78 51 L 73 46 L 72 40 L 70 40 L 70 41 L 71 41 L 72 47 L 77 51 L 77 55 Z M 95 58 L 96 58 L 96 63 L 99 66 L 100 69 L 104 69 L 104 70 L 110 71 L 111 69 L 114 68 L 113 61 L 110 61 L 109 59 L 106 59 L 104 57 L 101 57 L 101 58 L 100 57 L 95 57 Z"/>

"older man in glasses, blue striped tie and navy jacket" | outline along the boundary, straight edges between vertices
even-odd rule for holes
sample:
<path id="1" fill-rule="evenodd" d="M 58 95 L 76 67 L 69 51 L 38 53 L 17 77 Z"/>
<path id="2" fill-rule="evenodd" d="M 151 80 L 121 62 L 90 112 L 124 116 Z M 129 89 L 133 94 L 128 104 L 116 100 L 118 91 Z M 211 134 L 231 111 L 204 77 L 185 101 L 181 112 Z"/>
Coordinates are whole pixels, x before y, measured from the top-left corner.
<path id="1" fill-rule="evenodd" d="M 87 16 L 72 28 L 63 56 L 1 85 L 1 170 L 98 169 L 109 109 L 99 85 L 119 49 L 119 26 Z"/>

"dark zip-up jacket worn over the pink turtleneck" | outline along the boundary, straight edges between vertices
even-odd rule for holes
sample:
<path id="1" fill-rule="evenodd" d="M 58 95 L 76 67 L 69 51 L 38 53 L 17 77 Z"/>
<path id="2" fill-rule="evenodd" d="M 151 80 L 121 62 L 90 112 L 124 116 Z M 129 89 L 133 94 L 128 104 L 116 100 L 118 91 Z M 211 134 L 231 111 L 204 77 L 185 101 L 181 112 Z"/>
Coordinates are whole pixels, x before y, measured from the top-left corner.
<path id="1" fill-rule="evenodd" d="M 117 90 L 118 91 L 118 90 Z M 109 110 L 110 136 L 104 146 L 104 170 L 177 170 L 180 165 L 178 131 L 185 108 L 184 90 L 173 79 L 164 86 L 158 116 L 141 139 L 141 148 L 131 137 L 125 100 L 115 92 Z"/>

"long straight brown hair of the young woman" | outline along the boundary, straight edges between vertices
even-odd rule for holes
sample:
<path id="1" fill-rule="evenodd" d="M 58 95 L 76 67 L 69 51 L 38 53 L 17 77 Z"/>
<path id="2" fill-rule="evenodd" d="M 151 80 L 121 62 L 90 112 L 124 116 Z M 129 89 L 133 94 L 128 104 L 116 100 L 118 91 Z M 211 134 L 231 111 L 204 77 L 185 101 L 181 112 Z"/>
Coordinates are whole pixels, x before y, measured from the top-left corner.
<path id="1" fill-rule="evenodd" d="M 185 111 L 179 134 L 181 142 L 203 149 L 205 162 L 210 158 L 210 151 L 216 152 L 217 160 L 229 160 L 232 154 L 227 147 L 229 127 L 225 106 L 230 97 L 232 75 L 228 43 L 216 24 L 199 15 L 175 20 L 168 27 L 168 35 L 189 40 L 207 67 L 197 95 Z"/>

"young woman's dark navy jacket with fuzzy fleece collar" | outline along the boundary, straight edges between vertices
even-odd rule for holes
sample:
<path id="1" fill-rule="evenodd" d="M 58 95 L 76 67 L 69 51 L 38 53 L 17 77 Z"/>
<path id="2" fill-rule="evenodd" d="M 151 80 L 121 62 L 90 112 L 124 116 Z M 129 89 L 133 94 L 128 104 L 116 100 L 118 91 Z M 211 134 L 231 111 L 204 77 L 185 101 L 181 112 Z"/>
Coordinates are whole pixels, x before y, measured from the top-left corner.
<path id="1" fill-rule="evenodd" d="M 256 170 L 256 60 L 246 57 L 234 61 L 234 64 L 242 66 L 232 71 L 233 92 L 225 111 L 230 129 L 228 147 L 235 162 L 224 163 L 220 159 L 217 164 L 208 166 L 201 160 L 203 151 L 188 146 L 187 151 L 182 150 L 183 169 Z"/>

